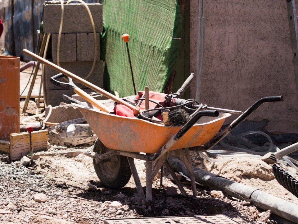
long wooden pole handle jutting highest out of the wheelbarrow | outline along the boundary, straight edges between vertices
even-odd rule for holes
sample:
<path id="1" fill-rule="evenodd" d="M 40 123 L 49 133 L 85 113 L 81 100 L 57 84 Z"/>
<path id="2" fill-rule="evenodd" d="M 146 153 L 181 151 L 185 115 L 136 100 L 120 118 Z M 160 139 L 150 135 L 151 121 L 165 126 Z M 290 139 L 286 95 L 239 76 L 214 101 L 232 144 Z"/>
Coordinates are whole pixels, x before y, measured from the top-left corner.
<path id="1" fill-rule="evenodd" d="M 27 49 L 24 49 L 23 50 L 23 53 L 24 54 L 27 54 L 28 56 L 30 56 L 31 58 L 34 58 L 35 60 L 37 60 L 38 62 L 40 63 L 43 63 L 45 65 L 47 65 L 48 67 L 60 72 L 60 73 L 63 73 L 64 75 L 72 78 L 73 80 L 87 86 L 88 88 L 108 97 L 109 99 L 111 100 L 114 100 L 116 103 L 119 103 L 119 104 L 122 104 L 122 105 L 125 105 L 127 106 L 130 110 L 133 110 L 133 111 L 136 111 L 135 110 L 135 107 L 127 102 L 125 102 L 124 100 L 120 99 L 119 97 L 116 97 L 114 96 L 113 94 L 109 93 L 108 91 L 105 91 L 103 90 L 102 88 L 98 87 L 98 86 L 95 86 L 94 84 L 92 84 L 91 82 L 88 82 L 86 80 L 84 80 L 83 78 L 65 70 L 64 68 L 61 68 L 59 67 L 58 65 L 55 65 L 54 63 L 52 62 L 49 62 L 48 60 L 42 58 L 42 57 L 39 57 L 37 54 L 34 54 L 32 53 L 31 51 L 27 50 Z"/>

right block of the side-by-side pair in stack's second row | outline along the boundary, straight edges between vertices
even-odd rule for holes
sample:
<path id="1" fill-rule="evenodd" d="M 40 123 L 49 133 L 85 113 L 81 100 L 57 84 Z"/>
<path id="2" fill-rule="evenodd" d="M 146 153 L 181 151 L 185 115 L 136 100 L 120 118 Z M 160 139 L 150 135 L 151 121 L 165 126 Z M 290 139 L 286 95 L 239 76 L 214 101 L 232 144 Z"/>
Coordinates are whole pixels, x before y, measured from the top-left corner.
<path id="1" fill-rule="evenodd" d="M 99 36 L 100 34 L 96 34 L 96 42 L 97 42 L 97 57 L 96 60 L 99 59 Z M 93 61 L 94 60 L 94 33 L 78 33 L 77 34 L 77 61 L 85 62 L 85 61 Z"/>

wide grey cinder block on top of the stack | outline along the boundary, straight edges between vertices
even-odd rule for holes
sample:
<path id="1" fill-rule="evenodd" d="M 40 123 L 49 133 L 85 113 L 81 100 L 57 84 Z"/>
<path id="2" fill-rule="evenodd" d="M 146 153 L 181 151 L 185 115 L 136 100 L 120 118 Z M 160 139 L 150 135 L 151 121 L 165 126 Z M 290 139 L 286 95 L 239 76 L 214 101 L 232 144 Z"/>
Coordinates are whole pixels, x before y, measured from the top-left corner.
<path id="1" fill-rule="evenodd" d="M 87 4 L 93 17 L 96 33 L 102 32 L 102 4 Z M 91 20 L 85 6 L 81 3 L 64 4 L 64 20 L 62 33 L 91 33 Z M 61 5 L 44 7 L 43 31 L 45 33 L 59 33 L 61 21 Z"/>

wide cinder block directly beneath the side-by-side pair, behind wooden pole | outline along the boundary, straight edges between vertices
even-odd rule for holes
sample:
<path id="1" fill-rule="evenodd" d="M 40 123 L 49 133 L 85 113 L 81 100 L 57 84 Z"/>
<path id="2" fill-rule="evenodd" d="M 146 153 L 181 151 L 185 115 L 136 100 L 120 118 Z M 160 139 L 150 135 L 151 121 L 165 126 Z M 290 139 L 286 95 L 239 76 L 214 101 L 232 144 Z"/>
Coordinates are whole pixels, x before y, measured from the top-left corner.
<path id="1" fill-rule="evenodd" d="M 91 68 L 92 68 L 93 62 L 69 62 L 69 63 L 60 63 L 60 67 L 66 69 L 69 72 L 74 73 L 75 75 L 85 78 Z M 55 90 L 55 89 L 62 89 L 61 87 L 58 87 L 51 83 L 50 78 L 56 74 L 58 74 L 56 70 L 49 68 L 46 66 L 45 68 L 45 77 L 44 77 L 44 96 L 47 95 L 48 90 Z M 103 86 L 103 71 L 102 71 L 102 61 L 97 61 L 94 67 L 94 70 L 90 77 L 87 78 L 88 82 L 91 82 L 92 84 L 102 87 Z M 84 89 L 86 86 L 76 83 L 79 88 Z"/>

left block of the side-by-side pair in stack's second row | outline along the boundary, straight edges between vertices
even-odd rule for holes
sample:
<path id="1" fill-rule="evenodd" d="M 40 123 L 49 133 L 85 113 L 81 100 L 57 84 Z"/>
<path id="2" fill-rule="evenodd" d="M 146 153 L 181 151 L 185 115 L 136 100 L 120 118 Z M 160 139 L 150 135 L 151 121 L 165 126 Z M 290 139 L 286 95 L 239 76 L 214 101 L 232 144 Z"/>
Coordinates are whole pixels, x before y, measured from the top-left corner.
<path id="1" fill-rule="evenodd" d="M 58 34 L 52 35 L 52 58 L 57 62 Z M 75 62 L 77 60 L 76 34 L 61 34 L 59 62 Z M 93 41 L 94 42 L 94 41 Z M 94 55 L 94 54 L 93 54 Z"/>

